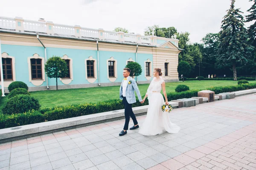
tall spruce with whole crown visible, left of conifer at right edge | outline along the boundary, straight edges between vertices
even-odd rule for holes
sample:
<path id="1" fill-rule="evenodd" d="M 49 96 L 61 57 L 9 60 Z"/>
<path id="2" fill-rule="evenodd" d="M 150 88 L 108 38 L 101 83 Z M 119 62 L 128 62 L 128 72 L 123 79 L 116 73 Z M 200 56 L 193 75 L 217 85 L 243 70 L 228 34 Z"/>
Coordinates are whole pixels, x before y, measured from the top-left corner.
<path id="1" fill-rule="evenodd" d="M 231 0 L 230 9 L 222 20 L 220 44 L 218 45 L 218 67 L 233 67 L 234 80 L 236 78 L 236 64 L 247 62 L 253 47 L 247 43 L 247 30 L 244 28 L 244 17 L 239 8 L 235 9 L 235 0 Z"/>

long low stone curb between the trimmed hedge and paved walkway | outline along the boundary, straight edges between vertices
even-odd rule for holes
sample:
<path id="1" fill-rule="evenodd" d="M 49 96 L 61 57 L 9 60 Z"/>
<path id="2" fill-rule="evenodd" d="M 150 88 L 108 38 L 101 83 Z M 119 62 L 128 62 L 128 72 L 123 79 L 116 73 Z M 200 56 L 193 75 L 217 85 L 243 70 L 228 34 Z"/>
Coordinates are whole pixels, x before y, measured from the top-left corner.
<path id="1" fill-rule="evenodd" d="M 256 88 L 244 90 L 244 91 L 235 91 L 231 93 L 222 93 L 218 94 L 216 98 L 220 99 L 220 95 L 223 99 L 231 99 L 235 96 L 241 96 L 246 94 L 253 94 L 256 92 Z M 203 103 L 208 101 L 207 97 L 193 97 L 189 99 L 178 99 L 177 102 L 175 100 L 169 102 L 173 106 L 173 108 L 179 108 L 179 102 L 183 102 L 183 106 L 191 107 L 198 104 L 201 104 L 201 100 L 203 99 Z M 148 111 L 148 105 L 139 106 L 133 108 L 134 114 L 137 116 L 146 114 Z M 38 136 L 42 134 L 52 133 L 61 130 L 68 130 L 77 127 L 93 125 L 102 122 L 109 122 L 117 119 L 124 119 L 124 109 L 117 111 L 109 111 L 103 113 L 90 114 L 85 116 L 78 116 L 68 119 L 54 120 L 49 122 L 41 122 L 35 123 L 32 125 L 23 125 L 18 127 L 10 127 L 5 129 L 0 129 L 0 143 L 9 142 L 18 139 L 24 139 L 32 136 Z"/>

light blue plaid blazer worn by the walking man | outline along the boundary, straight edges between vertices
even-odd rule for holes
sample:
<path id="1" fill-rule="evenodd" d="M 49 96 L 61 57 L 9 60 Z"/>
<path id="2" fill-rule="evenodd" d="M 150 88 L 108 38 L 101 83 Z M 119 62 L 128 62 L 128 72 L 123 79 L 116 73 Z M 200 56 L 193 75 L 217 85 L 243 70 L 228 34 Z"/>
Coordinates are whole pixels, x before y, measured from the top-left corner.
<path id="1" fill-rule="evenodd" d="M 131 84 L 129 84 L 128 82 L 131 81 Z M 124 82 L 124 80 L 122 81 L 122 83 Z M 126 88 L 126 100 L 129 104 L 132 103 L 136 103 L 136 98 L 135 98 L 135 93 L 134 91 L 136 91 L 136 94 L 138 96 L 139 101 L 142 101 L 142 98 L 140 96 L 140 91 L 139 88 L 137 86 L 136 81 L 131 78 L 130 76 L 127 77 L 127 88 Z M 123 99 L 122 97 L 122 84 L 120 86 L 120 91 L 119 91 L 119 99 Z"/>

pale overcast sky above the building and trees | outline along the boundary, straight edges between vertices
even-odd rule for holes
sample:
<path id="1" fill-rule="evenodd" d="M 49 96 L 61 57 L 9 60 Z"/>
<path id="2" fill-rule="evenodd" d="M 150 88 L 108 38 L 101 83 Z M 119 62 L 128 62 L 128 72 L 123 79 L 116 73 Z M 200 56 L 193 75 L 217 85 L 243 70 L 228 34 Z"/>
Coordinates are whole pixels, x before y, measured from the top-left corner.
<path id="1" fill-rule="evenodd" d="M 200 42 L 207 33 L 220 31 L 230 0 L 0 0 L 0 16 L 40 17 L 53 23 L 103 28 L 123 27 L 142 34 L 147 26 L 174 26 L 188 31 L 190 42 Z M 253 5 L 236 0 L 235 7 L 247 15 Z M 250 23 L 246 23 L 249 26 Z"/>

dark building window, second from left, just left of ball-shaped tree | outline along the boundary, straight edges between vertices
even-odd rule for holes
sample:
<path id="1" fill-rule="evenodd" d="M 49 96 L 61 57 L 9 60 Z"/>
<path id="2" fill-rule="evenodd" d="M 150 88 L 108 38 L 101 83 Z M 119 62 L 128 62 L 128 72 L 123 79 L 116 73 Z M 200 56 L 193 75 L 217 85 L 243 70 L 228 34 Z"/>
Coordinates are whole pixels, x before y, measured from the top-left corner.
<path id="1" fill-rule="evenodd" d="M 32 79 L 42 79 L 42 59 L 30 59 Z"/>

